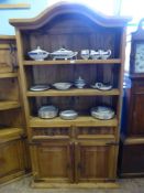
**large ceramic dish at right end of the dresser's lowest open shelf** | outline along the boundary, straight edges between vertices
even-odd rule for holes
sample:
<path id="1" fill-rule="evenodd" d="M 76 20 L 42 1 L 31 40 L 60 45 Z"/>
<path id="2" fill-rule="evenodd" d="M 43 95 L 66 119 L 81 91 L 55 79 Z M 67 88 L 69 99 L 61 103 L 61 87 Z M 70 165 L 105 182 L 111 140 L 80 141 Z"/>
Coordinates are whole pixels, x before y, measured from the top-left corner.
<path id="1" fill-rule="evenodd" d="M 114 117 L 113 109 L 106 106 L 93 107 L 91 108 L 90 112 L 93 118 L 98 118 L 102 120 L 112 119 Z"/>

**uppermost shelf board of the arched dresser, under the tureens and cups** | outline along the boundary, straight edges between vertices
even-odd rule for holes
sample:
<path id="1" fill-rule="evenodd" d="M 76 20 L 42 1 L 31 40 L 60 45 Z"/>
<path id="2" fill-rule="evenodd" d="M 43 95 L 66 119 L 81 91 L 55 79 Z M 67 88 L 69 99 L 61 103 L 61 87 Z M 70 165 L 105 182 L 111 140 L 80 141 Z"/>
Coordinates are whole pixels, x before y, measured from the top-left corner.
<path id="1" fill-rule="evenodd" d="M 54 65 L 54 64 L 121 64 L 120 58 L 109 60 L 53 60 L 53 61 L 23 61 L 23 65 Z"/>

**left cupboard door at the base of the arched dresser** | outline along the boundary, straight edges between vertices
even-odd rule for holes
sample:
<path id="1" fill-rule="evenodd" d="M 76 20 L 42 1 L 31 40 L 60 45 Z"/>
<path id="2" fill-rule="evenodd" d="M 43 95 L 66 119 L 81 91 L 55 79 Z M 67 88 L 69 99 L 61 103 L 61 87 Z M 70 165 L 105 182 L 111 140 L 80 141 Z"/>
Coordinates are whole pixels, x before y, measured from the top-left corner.
<path id="1" fill-rule="evenodd" d="M 71 182 L 71 144 L 41 142 L 32 147 L 32 167 L 35 181 Z"/>

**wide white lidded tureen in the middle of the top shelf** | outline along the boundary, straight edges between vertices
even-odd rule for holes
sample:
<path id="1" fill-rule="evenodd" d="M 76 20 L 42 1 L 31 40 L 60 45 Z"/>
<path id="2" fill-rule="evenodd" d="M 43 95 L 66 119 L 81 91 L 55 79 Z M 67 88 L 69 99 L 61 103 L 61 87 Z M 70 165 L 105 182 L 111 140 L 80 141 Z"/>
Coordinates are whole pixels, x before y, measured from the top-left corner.
<path id="1" fill-rule="evenodd" d="M 73 52 L 66 49 L 59 49 L 53 53 L 51 53 L 53 60 L 68 60 L 73 58 L 77 55 L 78 52 Z"/>

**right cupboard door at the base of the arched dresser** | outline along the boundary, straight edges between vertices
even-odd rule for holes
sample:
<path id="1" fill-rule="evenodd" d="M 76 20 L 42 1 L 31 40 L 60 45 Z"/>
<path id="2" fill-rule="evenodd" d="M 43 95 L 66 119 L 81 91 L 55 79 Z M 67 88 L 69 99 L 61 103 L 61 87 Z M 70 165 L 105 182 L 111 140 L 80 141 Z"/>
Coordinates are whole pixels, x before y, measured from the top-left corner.
<path id="1" fill-rule="evenodd" d="M 113 180 L 115 147 L 107 143 L 79 142 L 75 146 L 76 182 Z"/>

